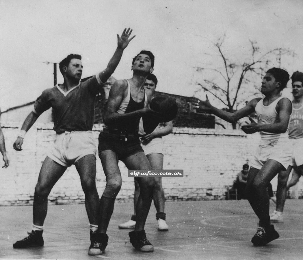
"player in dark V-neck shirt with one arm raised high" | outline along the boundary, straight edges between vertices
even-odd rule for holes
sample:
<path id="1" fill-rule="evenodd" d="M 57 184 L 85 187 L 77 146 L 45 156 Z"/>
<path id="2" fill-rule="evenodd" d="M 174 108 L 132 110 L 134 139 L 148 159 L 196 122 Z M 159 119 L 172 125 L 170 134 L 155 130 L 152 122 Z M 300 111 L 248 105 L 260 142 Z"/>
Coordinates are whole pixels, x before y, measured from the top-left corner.
<path id="1" fill-rule="evenodd" d="M 97 210 L 99 196 L 95 185 L 96 148 L 92 136 L 94 123 L 95 97 L 102 90 L 104 82 L 117 67 L 123 50 L 134 38 L 129 38 L 132 30 L 124 30 L 118 37 L 118 47 L 107 68 L 96 76 L 81 82 L 81 56 L 70 54 L 59 64 L 63 84 L 57 84 L 42 92 L 35 102 L 34 111 L 25 119 L 14 149 L 22 150 L 23 138 L 28 129 L 45 110 L 53 108 L 56 138 L 50 153 L 45 158 L 35 187 L 33 207 L 33 228 L 28 236 L 17 241 L 14 248 L 43 246 L 43 224 L 47 213 L 48 195 L 52 187 L 63 175 L 67 167 L 74 164 L 80 175 L 85 193 L 85 208 L 92 233 L 97 229 Z"/>

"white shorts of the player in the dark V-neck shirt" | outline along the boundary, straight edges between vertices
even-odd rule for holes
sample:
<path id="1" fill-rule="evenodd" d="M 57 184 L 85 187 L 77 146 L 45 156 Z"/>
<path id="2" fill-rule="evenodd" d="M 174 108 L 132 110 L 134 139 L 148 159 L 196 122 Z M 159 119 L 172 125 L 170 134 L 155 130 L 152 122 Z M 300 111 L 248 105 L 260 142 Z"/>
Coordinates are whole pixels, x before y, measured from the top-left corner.
<path id="1" fill-rule="evenodd" d="M 56 135 L 47 156 L 58 164 L 68 167 L 85 155 L 96 156 L 96 152 L 92 131 L 72 131 Z"/>

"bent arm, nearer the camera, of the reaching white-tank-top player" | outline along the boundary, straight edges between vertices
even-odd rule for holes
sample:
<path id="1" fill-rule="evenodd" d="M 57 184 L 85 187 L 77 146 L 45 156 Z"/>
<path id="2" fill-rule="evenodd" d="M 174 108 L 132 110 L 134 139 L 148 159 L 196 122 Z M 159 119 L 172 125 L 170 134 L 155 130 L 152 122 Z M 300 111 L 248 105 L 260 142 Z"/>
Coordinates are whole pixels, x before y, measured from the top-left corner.
<path id="1" fill-rule="evenodd" d="M 268 133 L 280 134 L 285 133 L 288 127 L 289 118 L 292 112 L 292 104 L 288 98 L 282 98 L 277 106 L 278 122 L 273 124 L 259 124 L 251 122 L 249 125 L 243 125 L 241 129 L 246 134 L 253 134 L 255 132 L 263 131 Z"/>

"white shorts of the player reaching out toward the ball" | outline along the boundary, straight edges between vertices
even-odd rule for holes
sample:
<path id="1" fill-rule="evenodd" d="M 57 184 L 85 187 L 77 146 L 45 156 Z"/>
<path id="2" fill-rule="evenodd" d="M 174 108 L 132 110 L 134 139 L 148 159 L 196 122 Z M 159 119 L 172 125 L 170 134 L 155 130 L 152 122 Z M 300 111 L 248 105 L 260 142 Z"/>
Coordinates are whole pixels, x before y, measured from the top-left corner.
<path id="1" fill-rule="evenodd" d="M 291 164 L 291 157 L 291 142 L 289 142 L 289 139 L 261 139 L 254 159 L 251 162 L 251 167 L 260 170 L 267 160 L 272 159 L 281 163 L 287 169 L 288 165 Z"/>

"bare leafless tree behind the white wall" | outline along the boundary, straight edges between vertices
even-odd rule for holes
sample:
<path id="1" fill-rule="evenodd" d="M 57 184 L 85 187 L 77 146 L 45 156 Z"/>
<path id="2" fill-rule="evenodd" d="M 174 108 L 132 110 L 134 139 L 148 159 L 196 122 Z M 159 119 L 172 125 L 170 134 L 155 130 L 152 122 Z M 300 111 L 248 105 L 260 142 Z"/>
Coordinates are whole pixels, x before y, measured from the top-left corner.
<path id="1" fill-rule="evenodd" d="M 223 51 L 224 40 L 225 35 L 216 42 L 211 42 L 215 47 L 215 53 L 222 62 L 221 66 L 195 67 L 197 72 L 203 73 L 203 79 L 198 80 L 195 84 L 198 86 L 196 93 L 203 90 L 211 94 L 226 106 L 228 112 L 234 112 L 238 109 L 239 104 L 260 93 L 256 85 L 256 78 L 260 82 L 260 78 L 265 75 L 269 66 L 281 68 L 281 57 L 283 55 L 295 56 L 294 52 L 286 48 L 275 48 L 260 53 L 257 42 L 249 40 L 251 44 L 250 53 L 244 60 L 239 61 L 231 55 L 227 57 L 228 54 Z M 208 54 L 205 53 L 205 55 Z M 204 73 L 205 71 L 208 71 L 208 74 Z M 210 71 L 213 73 L 210 73 Z M 236 123 L 233 123 L 232 127 L 236 129 Z"/>

